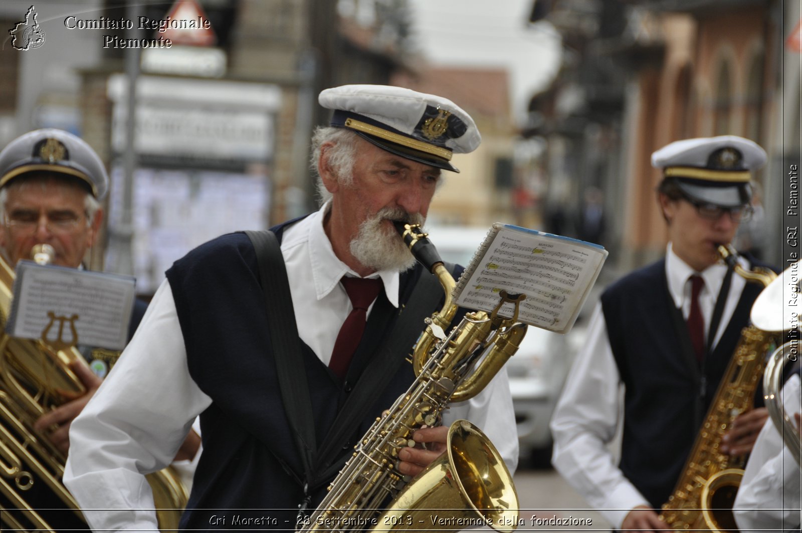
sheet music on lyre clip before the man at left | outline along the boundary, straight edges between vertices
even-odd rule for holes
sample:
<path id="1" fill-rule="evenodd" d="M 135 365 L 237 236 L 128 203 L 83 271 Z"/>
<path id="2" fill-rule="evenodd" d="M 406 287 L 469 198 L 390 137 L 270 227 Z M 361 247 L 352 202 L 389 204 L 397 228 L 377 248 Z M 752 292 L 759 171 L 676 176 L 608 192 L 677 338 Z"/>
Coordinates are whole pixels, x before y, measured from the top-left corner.
<path id="1" fill-rule="evenodd" d="M 41 339 L 51 322 L 48 313 L 72 317 L 79 344 L 121 350 L 128 340 L 128 323 L 134 306 L 135 279 L 107 272 L 17 263 L 14 296 L 6 332 L 23 339 Z M 47 340 L 59 335 L 59 320 Z M 72 342 L 70 324 L 63 324 L 63 338 Z"/>

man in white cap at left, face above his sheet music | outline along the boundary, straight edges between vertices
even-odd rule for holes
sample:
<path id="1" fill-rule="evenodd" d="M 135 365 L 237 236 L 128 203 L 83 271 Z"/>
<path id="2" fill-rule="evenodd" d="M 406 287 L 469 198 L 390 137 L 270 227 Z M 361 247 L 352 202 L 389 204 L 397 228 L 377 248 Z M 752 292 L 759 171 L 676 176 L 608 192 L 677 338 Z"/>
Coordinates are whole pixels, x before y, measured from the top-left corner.
<path id="1" fill-rule="evenodd" d="M 38 244 L 52 246 L 51 263 L 83 268 L 84 258 L 98 238 L 103 222 L 100 201 L 108 189 L 103 162 L 89 144 L 69 132 L 46 128 L 12 140 L 0 152 L 0 251 L 11 267 L 31 259 Z M 136 300 L 129 339 L 147 305 Z M 35 429 L 67 454 L 71 421 L 98 389 L 119 352 L 79 346 L 87 364 L 71 369 L 87 394 L 43 414 Z M 190 437 L 177 459 L 189 459 L 200 444 Z"/>

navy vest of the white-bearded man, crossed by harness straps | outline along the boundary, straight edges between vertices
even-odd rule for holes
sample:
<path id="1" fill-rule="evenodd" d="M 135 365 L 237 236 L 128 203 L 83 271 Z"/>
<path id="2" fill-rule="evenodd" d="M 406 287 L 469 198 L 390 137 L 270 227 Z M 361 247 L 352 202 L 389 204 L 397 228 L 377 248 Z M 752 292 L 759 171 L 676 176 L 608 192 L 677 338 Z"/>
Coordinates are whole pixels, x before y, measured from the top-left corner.
<path id="1" fill-rule="evenodd" d="M 283 228 L 274 229 L 279 239 Z M 416 264 L 401 275 L 402 305 L 421 274 L 423 268 Z M 212 398 L 212 405 L 201 413 L 204 450 L 181 527 L 293 530 L 303 498 L 303 466 L 277 383 L 253 246 L 245 234 L 224 235 L 177 261 L 167 278 L 186 344 L 189 373 Z M 302 364 L 318 443 L 397 316 L 398 310 L 382 292 L 344 383 L 303 344 Z M 426 316 L 420 317 L 421 329 Z M 314 327 L 314 323 L 298 324 L 299 330 Z M 399 347 L 399 357 L 410 350 Z M 413 380 L 411 365 L 401 364 L 334 462 L 345 462 L 375 417 Z M 319 465 L 321 470 L 326 466 Z M 330 481 L 310 487 L 312 508 L 318 506 Z"/>

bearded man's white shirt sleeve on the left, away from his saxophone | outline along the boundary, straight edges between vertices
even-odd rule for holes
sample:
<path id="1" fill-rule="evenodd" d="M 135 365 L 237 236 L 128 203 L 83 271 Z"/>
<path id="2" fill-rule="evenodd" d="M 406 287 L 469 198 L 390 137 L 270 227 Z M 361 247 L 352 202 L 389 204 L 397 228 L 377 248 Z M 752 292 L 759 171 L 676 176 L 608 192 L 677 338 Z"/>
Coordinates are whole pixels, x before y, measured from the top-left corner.
<path id="1" fill-rule="evenodd" d="M 144 474 L 170 464 L 192 421 L 210 404 L 189 376 L 165 281 L 131 343 L 70 428 L 64 483 L 92 530 L 158 529 Z"/>

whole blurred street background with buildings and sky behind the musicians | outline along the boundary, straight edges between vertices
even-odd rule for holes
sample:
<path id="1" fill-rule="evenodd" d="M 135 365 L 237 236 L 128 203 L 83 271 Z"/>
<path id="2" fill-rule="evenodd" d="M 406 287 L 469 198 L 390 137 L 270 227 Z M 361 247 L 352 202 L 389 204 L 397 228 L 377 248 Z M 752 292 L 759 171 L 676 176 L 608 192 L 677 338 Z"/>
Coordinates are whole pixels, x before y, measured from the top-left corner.
<path id="1" fill-rule="evenodd" d="M 464 262 L 502 221 L 610 250 L 573 331 L 530 333 L 509 367 L 531 509 L 585 507 L 549 470 L 548 420 L 599 291 L 664 253 L 650 153 L 755 140 L 769 161 L 737 246 L 781 264 L 798 224 L 800 2 L 32 1 L 0 2 L 0 145 L 56 127 L 95 148 L 112 184 L 87 266 L 136 275 L 146 298 L 201 242 L 314 210 L 317 95 L 346 83 L 432 92 L 476 119 L 480 149 L 431 205 L 439 248 Z M 137 23 L 168 16 L 210 27 Z"/>

